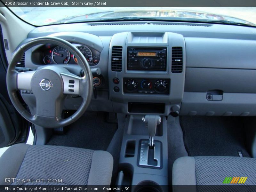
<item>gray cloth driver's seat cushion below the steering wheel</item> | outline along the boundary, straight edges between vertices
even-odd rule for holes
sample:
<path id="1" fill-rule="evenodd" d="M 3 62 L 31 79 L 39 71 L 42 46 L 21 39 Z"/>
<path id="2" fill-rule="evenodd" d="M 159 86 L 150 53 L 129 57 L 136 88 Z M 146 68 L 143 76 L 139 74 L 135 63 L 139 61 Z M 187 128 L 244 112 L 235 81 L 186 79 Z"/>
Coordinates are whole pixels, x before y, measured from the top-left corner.
<path id="1" fill-rule="evenodd" d="M 107 151 L 16 144 L 0 157 L 0 167 L 0 185 L 110 185 L 113 157 Z"/>

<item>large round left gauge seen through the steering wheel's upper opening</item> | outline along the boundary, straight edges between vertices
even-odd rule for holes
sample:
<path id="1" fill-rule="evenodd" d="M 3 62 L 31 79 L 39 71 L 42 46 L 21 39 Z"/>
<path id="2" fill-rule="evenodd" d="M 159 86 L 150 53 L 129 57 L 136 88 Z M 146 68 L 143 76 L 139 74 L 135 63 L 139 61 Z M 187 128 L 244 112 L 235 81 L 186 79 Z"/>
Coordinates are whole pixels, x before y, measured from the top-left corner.
<path id="1" fill-rule="evenodd" d="M 70 59 L 70 52 L 64 47 L 55 47 L 52 51 L 52 59 L 55 63 L 67 64 Z"/>

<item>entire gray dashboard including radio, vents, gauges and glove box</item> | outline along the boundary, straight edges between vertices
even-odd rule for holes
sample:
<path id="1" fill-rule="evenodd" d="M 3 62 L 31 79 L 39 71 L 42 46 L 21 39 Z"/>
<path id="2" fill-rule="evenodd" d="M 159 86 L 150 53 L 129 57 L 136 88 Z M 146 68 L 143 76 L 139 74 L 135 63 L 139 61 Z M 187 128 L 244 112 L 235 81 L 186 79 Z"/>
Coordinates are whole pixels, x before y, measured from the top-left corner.
<path id="1" fill-rule="evenodd" d="M 72 31 L 70 29 L 72 28 Z M 124 114 L 255 116 L 256 29 L 162 21 L 73 23 L 38 27 L 27 39 L 56 36 L 84 54 L 97 78 L 88 110 Z M 45 44 L 25 67 L 63 65 L 81 76 L 76 57 Z M 33 95 L 22 94 L 33 106 Z M 68 96 L 65 109 L 81 98 Z"/>

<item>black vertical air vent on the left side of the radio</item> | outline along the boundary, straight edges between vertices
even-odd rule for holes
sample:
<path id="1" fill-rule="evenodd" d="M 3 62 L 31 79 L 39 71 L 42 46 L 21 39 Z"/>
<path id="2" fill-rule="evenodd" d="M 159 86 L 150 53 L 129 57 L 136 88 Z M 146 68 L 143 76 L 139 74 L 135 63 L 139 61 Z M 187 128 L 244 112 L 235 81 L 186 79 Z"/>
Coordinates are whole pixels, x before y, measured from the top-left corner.
<path id="1" fill-rule="evenodd" d="M 111 70 L 112 71 L 122 71 L 122 56 L 123 56 L 123 47 L 122 46 L 113 46 L 112 47 L 112 56 L 111 56 Z"/>

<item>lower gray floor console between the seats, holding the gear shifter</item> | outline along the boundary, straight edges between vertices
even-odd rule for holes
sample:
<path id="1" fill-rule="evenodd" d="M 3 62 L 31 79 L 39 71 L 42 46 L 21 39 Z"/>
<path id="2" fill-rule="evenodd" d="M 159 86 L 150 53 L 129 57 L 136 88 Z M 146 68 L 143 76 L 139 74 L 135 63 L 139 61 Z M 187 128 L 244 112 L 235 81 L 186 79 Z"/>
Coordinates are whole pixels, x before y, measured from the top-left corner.
<path id="1" fill-rule="evenodd" d="M 116 185 L 132 191 L 168 191 L 166 118 L 129 115 L 124 125 Z"/>

